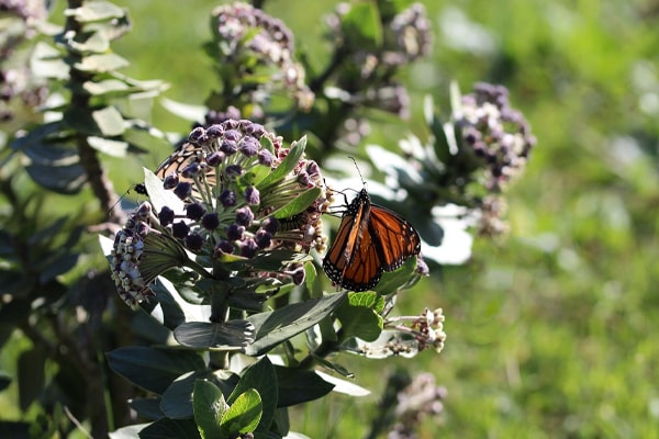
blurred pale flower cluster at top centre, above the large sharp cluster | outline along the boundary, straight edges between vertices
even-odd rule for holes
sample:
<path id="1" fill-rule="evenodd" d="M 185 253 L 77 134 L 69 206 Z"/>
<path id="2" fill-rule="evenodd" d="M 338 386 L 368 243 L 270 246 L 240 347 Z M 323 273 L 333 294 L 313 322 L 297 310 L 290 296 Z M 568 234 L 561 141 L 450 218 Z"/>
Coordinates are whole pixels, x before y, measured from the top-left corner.
<path id="1" fill-rule="evenodd" d="M 220 64 L 245 69 L 237 72 L 239 78 L 249 78 L 256 68 L 265 68 L 269 71 L 268 93 L 273 85 L 281 85 L 293 93 L 299 108 L 311 108 L 314 97 L 305 85 L 303 67 L 293 58 L 293 34 L 281 20 L 242 2 L 217 7 L 212 15 L 224 58 Z M 257 95 L 253 98 L 259 101 Z"/>

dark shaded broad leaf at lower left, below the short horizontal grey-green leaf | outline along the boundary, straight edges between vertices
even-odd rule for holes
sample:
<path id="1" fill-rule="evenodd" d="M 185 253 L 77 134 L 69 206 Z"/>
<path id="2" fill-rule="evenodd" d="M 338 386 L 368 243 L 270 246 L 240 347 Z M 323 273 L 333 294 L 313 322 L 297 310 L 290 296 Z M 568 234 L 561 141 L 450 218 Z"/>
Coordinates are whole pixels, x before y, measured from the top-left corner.
<path id="1" fill-rule="evenodd" d="M 197 352 L 130 346 L 105 353 L 110 368 L 133 384 L 161 395 L 181 374 L 205 368 Z"/>

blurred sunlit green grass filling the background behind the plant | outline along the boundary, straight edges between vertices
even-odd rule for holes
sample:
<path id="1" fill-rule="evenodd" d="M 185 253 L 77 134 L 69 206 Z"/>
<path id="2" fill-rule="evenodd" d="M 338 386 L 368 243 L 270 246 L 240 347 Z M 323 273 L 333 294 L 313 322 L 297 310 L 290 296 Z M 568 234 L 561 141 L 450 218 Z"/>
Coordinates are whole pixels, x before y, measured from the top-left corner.
<path id="1" fill-rule="evenodd" d="M 123 0 L 133 32 L 114 46 L 138 79 L 164 79 L 169 99 L 201 104 L 214 86 L 201 44 L 216 1 Z M 266 1 L 312 64 L 326 60 L 330 1 Z M 478 238 L 463 267 L 435 269 L 400 297 L 401 313 L 443 307 L 440 354 L 339 359 L 378 395 L 396 367 L 432 371 L 448 390 L 421 437 L 659 437 L 659 2 L 425 1 L 434 55 L 405 74 L 409 123 L 373 125 L 389 147 L 424 136 L 423 97 L 448 110 L 448 83 L 502 83 L 537 147 L 511 188 L 510 234 Z M 158 105 L 152 122 L 186 133 Z M 118 191 L 135 171 L 115 167 Z M 312 438 L 361 437 L 377 397 L 333 395 L 293 413 Z M 328 416 L 325 416 L 328 413 Z M 322 416 L 319 416 L 322 415 Z"/>

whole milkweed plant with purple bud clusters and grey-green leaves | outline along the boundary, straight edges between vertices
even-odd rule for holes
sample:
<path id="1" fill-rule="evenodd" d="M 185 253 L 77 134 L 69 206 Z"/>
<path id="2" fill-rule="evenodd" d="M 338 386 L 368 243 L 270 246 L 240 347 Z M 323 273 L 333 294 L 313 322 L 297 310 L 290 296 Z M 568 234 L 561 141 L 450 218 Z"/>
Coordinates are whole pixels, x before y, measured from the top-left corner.
<path id="1" fill-rule="evenodd" d="M 33 103 L 48 112 L 47 122 L 7 132 L 1 150 L 3 212 L 11 214 L 3 216 L 14 221 L 0 237 L 29 251 L 0 256 L 2 277 L 24 284 L 5 294 L 0 315 L 11 312 L 34 344 L 20 362 L 49 358 L 60 370 L 47 378 L 42 365 L 43 380 L 22 394 L 22 409 L 44 405 L 30 428 L 68 435 L 88 421 L 94 437 L 303 437 L 290 425 L 290 407 L 331 392 L 369 393 L 348 354 L 382 361 L 442 351 L 443 309 L 399 315 L 396 300 L 434 267 L 466 262 L 473 234 L 505 232 L 505 189 L 535 138 L 505 88 L 477 83 L 461 94 L 454 83 L 448 114 L 426 99 L 424 137 L 364 145 L 373 111 L 410 114 L 400 71 L 432 49 L 421 3 L 338 4 L 325 19 L 334 52 L 321 70 L 310 68 L 282 21 L 247 3 L 217 7 L 204 45 L 216 88 L 202 105 L 163 101 L 197 115 L 176 145 L 123 104 L 167 87 L 119 72 L 127 61 L 110 47 L 131 29 L 125 10 L 70 1 L 56 26 L 43 11 L 38 19 L 25 12 L 29 2 L 0 4 L 23 26 L 13 32 L 31 30 L 21 42 L 33 40 L 21 48 L 30 55 L 12 64 L 23 63 L 20 71 L 2 64 L 4 119 L 16 123 L 10 79 L 31 68 L 31 80 L 15 83 L 35 83 Z M 19 53 L 11 46 L 19 38 L 3 41 L 8 59 Z M 103 156 L 136 160 L 139 151 L 163 165 L 134 176 L 138 201 L 127 205 Z M 333 239 L 333 221 L 324 219 L 344 212 L 345 188 L 361 189 L 349 178 L 359 172 L 348 156 L 365 177 L 376 171 L 373 202 L 407 218 L 423 241 L 418 257 L 372 291 L 333 285 L 320 264 Z M 15 190 L 21 175 L 34 181 L 32 194 Z M 77 217 L 44 224 L 38 188 L 71 206 L 89 188 L 98 214 L 85 214 L 81 199 Z M 98 255 L 93 236 L 109 263 L 90 256 Z M 47 263 L 38 271 L 34 261 Z M 109 373 L 123 384 L 101 379 Z M 65 385 L 71 380 L 85 390 Z M 69 407 L 63 401 L 74 391 L 82 392 L 80 404 Z M 125 397 L 110 402 L 103 393 Z M 388 415 L 371 420 L 368 437 L 412 437 L 422 418 L 440 416 L 446 397 L 432 375 L 398 371 L 380 401 Z"/>

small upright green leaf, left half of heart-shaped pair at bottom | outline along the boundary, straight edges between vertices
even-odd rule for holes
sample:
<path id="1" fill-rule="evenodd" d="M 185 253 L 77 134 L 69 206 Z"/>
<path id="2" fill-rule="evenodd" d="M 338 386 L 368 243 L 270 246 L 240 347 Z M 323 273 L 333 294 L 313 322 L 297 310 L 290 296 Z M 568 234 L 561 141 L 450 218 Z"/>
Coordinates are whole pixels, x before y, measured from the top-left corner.
<path id="1" fill-rule="evenodd" d="M 220 387 L 210 381 L 197 380 L 192 394 L 194 407 L 194 421 L 202 438 L 221 438 L 220 421 L 222 415 L 228 409 Z"/>

